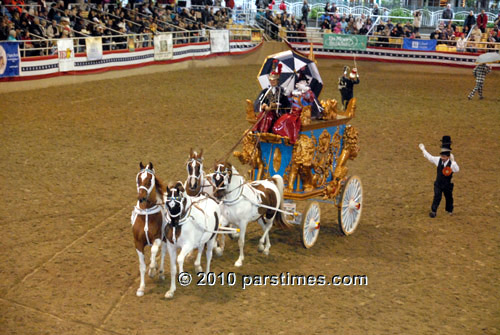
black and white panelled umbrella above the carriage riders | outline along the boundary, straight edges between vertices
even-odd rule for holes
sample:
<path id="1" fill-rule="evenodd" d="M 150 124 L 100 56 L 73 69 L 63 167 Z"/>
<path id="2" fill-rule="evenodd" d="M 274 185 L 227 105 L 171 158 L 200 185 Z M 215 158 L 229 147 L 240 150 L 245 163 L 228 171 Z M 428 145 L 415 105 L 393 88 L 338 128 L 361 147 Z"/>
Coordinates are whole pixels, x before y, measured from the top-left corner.
<path id="1" fill-rule="evenodd" d="M 316 97 L 319 96 L 323 88 L 323 81 L 319 75 L 316 63 L 290 50 L 266 58 L 260 69 L 259 76 L 257 77 L 263 89 L 270 85 L 269 74 L 272 71 L 272 65 L 275 59 L 282 64 L 279 84 L 286 90 L 287 94 L 290 94 L 295 89 L 295 83 L 302 73 Z"/>

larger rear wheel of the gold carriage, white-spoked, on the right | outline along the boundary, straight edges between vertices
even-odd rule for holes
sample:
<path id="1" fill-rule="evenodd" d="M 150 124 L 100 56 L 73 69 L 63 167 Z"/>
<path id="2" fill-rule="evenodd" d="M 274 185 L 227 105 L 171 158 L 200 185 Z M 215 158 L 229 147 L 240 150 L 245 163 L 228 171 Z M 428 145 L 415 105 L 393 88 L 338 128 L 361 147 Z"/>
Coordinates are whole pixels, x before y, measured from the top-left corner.
<path id="1" fill-rule="evenodd" d="M 363 185 L 361 179 L 352 176 L 347 179 L 339 204 L 339 226 L 344 235 L 351 235 L 358 227 L 363 210 Z"/>

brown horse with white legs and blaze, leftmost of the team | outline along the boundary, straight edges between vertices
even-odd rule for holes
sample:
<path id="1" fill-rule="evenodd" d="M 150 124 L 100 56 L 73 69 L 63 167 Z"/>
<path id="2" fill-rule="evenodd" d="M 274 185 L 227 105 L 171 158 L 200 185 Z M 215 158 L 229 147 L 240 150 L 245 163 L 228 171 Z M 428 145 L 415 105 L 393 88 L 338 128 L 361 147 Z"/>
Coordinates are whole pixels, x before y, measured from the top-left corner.
<path id="1" fill-rule="evenodd" d="M 146 273 L 146 263 L 144 261 L 144 248 L 151 246 L 151 263 L 149 265 L 149 276 L 156 273 L 156 254 L 160 245 L 161 263 L 160 279 L 164 279 L 163 265 L 165 260 L 166 246 L 164 237 L 164 227 L 166 226 L 165 210 L 163 207 L 163 185 L 156 177 L 153 163 L 144 166 L 139 164 L 140 171 L 136 177 L 137 184 L 137 205 L 132 212 L 132 233 L 134 235 L 135 249 L 139 256 L 139 270 L 141 272 L 141 284 L 137 289 L 137 296 L 144 295 L 146 287 L 144 276 Z"/>

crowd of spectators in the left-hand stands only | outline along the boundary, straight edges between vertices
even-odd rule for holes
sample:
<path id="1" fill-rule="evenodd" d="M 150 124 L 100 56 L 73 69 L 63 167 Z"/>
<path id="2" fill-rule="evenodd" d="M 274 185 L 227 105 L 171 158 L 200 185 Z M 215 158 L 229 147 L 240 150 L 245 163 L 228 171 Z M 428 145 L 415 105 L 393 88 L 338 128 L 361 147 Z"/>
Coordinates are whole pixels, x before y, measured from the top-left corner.
<path id="1" fill-rule="evenodd" d="M 104 50 L 124 49 L 127 34 L 143 34 L 143 45 L 155 33 L 167 31 L 177 32 L 177 43 L 200 42 L 206 40 L 206 29 L 225 28 L 228 24 L 231 7 L 214 7 L 220 5 L 219 0 L 195 0 L 192 4 L 191 8 L 185 8 L 168 1 L 135 6 L 129 2 L 122 7 L 109 1 L 97 4 L 59 1 L 48 7 L 44 0 L 39 0 L 38 6 L 22 6 L 10 0 L 0 8 L 0 40 L 22 41 L 24 49 L 35 49 L 28 50 L 30 56 L 41 53 L 36 49 L 40 48 L 40 39 L 102 36 Z M 225 4 L 234 6 L 234 1 Z M 80 41 L 85 43 L 83 39 Z"/>

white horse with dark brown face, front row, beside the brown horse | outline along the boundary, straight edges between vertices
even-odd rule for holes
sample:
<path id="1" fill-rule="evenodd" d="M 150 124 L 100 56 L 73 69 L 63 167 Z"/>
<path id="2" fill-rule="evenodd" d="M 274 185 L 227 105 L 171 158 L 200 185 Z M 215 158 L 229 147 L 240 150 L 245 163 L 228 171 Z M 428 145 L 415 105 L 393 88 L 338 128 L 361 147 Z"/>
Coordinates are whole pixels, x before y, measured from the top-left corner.
<path id="1" fill-rule="evenodd" d="M 195 261 L 195 268 L 197 272 L 201 272 L 201 253 L 206 244 L 206 273 L 210 272 L 215 235 L 219 225 L 225 225 L 225 220 L 217 202 L 208 197 L 187 196 L 181 182 L 167 187 L 165 208 L 170 219 L 165 233 L 170 255 L 170 289 L 165 298 L 173 298 L 177 281 L 176 261 L 179 264 L 179 273 L 183 273 L 185 257 L 193 249 L 198 249 L 199 257 Z M 178 248 L 181 252 L 177 256 Z"/>

